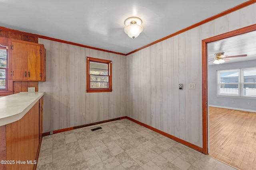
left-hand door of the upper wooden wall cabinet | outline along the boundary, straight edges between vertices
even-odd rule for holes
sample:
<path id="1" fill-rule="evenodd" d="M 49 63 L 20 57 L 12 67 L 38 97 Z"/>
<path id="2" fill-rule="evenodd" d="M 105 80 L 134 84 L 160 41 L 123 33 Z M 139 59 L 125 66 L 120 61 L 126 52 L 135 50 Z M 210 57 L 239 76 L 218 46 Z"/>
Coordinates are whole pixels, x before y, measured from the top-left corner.
<path id="1" fill-rule="evenodd" d="M 12 80 L 27 80 L 27 45 L 12 41 Z"/>

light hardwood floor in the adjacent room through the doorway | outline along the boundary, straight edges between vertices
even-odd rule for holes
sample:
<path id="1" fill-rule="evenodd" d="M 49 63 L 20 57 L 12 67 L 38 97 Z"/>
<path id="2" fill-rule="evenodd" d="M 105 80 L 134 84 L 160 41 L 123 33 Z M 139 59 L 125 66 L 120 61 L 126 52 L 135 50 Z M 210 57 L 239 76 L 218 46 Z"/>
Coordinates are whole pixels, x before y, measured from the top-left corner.
<path id="1" fill-rule="evenodd" d="M 241 170 L 256 170 L 256 113 L 209 107 L 209 155 Z"/>

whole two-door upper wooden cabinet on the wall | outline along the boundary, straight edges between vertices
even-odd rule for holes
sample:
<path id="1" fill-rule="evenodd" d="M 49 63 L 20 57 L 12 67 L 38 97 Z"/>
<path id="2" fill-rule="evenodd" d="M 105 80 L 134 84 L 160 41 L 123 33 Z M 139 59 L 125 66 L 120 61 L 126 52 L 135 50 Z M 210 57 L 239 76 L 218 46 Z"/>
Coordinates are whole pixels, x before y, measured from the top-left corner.
<path id="1" fill-rule="evenodd" d="M 44 45 L 8 40 L 9 47 L 9 80 L 45 81 Z"/>

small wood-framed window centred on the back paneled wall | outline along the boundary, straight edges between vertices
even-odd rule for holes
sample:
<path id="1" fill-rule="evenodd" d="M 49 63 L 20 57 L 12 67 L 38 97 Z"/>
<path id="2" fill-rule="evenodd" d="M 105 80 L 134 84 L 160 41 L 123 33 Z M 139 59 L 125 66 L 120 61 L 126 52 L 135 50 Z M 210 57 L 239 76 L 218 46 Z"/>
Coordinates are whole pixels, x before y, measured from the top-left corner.
<path id="1" fill-rule="evenodd" d="M 112 92 L 112 61 L 86 58 L 86 92 Z"/>

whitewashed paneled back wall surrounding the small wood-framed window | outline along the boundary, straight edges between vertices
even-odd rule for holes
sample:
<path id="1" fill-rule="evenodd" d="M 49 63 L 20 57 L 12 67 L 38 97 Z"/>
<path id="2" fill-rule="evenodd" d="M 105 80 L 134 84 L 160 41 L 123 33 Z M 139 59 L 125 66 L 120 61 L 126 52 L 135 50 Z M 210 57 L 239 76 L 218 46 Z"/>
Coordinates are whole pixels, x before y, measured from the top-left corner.
<path id="1" fill-rule="evenodd" d="M 38 39 L 46 49 L 44 132 L 126 115 L 126 58 L 123 55 Z M 112 61 L 112 92 L 86 93 L 86 57 Z M 85 113 L 85 116 L 82 114 Z"/>

